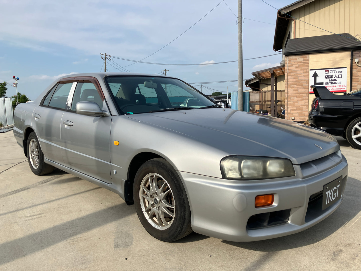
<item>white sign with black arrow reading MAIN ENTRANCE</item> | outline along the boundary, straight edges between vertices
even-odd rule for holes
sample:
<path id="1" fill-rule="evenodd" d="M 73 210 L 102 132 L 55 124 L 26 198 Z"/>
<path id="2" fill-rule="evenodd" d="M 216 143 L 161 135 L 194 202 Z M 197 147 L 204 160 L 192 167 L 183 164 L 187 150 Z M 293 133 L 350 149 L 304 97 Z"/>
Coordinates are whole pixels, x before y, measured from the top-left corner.
<path id="1" fill-rule="evenodd" d="M 325 86 L 331 92 L 346 92 L 347 67 L 310 69 L 309 79 L 310 86 Z"/>

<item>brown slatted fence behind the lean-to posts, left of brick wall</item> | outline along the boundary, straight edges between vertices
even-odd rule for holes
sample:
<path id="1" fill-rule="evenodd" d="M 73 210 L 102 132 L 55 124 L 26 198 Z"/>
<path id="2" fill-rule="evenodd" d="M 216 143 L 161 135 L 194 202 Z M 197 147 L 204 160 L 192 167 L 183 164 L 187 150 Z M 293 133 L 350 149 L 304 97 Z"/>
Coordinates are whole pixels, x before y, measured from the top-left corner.
<path id="1" fill-rule="evenodd" d="M 284 115 L 281 115 L 282 109 L 284 109 L 285 101 L 285 90 L 277 90 L 277 112 L 281 119 L 284 119 Z M 260 90 L 260 91 L 249 91 L 249 112 L 256 113 L 256 109 L 268 110 L 271 112 L 271 91 L 270 90 Z"/>

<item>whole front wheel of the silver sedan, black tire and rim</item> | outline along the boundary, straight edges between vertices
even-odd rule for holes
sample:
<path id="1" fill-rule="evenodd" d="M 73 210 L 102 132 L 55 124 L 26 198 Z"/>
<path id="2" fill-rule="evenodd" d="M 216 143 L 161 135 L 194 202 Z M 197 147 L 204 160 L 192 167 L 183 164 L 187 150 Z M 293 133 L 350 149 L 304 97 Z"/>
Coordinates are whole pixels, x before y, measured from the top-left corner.
<path id="1" fill-rule="evenodd" d="M 155 158 L 138 169 L 133 195 L 138 218 L 153 237 L 173 242 L 192 232 L 186 191 L 177 172 L 166 160 Z"/>

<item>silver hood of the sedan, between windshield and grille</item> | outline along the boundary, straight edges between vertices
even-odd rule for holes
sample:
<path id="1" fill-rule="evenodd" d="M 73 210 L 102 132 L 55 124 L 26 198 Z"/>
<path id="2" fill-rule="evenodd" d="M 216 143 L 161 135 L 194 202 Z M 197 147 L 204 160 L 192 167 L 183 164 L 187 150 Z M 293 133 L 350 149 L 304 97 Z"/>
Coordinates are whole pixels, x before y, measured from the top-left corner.
<path id="1" fill-rule="evenodd" d="M 142 113 L 127 117 L 182 133 L 229 155 L 280 157 L 301 164 L 340 149 L 335 139 L 321 130 L 228 108 Z M 180 147 L 187 150 L 187 146 Z"/>

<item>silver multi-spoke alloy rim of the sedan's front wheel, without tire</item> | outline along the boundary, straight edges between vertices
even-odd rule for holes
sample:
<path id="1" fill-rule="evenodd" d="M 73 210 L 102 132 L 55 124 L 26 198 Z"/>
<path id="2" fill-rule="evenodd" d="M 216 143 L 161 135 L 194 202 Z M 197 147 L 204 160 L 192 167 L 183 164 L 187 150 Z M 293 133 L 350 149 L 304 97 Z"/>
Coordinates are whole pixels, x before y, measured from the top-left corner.
<path id="1" fill-rule="evenodd" d="M 145 218 L 156 229 L 167 229 L 173 223 L 175 202 L 168 182 L 157 173 L 147 174 L 139 189 L 140 206 Z"/>

